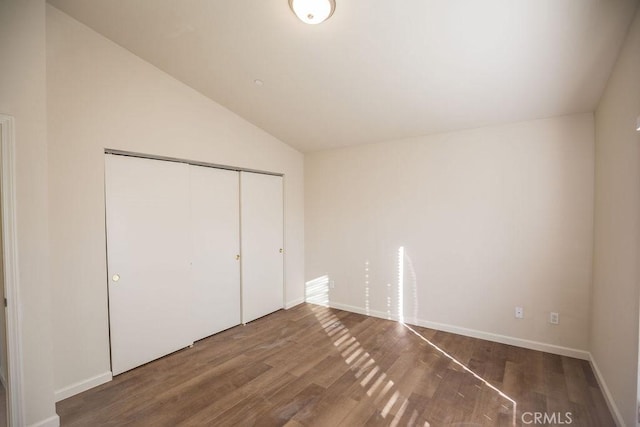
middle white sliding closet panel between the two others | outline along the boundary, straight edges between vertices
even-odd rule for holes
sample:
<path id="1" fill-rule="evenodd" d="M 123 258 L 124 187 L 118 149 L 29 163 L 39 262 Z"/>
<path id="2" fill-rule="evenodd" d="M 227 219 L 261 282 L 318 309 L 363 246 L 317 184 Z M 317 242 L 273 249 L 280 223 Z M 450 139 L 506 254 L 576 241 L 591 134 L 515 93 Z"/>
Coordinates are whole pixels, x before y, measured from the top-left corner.
<path id="1" fill-rule="evenodd" d="M 191 166 L 194 340 L 240 324 L 239 173 Z"/>

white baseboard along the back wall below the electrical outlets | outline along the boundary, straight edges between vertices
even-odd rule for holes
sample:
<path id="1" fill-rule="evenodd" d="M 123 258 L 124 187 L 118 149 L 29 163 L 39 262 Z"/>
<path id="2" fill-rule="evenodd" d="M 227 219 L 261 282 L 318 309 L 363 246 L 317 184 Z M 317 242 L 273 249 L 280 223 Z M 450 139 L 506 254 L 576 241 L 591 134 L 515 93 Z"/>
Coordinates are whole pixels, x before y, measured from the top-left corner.
<path id="1" fill-rule="evenodd" d="M 398 317 L 389 313 L 376 310 L 365 310 L 362 307 L 330 302 L 329 306 L 338 310 L 350 311 L 353 313 L 364 314 L 367 316 L 379 317 L 381 319 L 398 320 Z M 516 347 L 528 348 L 530 350 L 544 351 L 546 353 L 558 354 L 560 356 L 575 357 L 576 359 L 591 360 L 589 352 L 586 350 L 578 350 L 569 347 L 562 347 L 554 344 L 547 344 L 538 341 L 531 341 L 522 338 L 515 338 L 506 335 L 494 334 L 491 332 L 478 331 L 475 329 L 463 328 L 460 326 L 448 325 L 445 323 L 430 322 L 427 320 L 408 320 L 408 325 L 422 326 L 424 328 L 435 329 L 443 332 L 451 332 L 453 334 L 464 335 L 466 337 L 479 338 L 487 341 L 499 342 L 501 344 L 513 345 Z"/>

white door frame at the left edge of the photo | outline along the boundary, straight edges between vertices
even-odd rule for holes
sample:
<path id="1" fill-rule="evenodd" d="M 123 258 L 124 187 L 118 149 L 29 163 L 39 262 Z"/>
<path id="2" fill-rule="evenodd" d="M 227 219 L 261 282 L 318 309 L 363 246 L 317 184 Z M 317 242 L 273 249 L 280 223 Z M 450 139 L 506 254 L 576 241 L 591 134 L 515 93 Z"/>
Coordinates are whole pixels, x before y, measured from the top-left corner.
<path id="1" fill-rule="evenodd" d="M 15 125 L 14 118 L 0 114 L 2 144 L 2 232 L 4 236 L 4 288 L 7 298 L 7 367 L 8 404 L 10 426 L 25 424 L 22 373 L 22 330 L 20 307 L 20 275 L 18 269 L 18 229 L 16 214 Z M 0 302 L 1 303 L 1 302 Z"/>

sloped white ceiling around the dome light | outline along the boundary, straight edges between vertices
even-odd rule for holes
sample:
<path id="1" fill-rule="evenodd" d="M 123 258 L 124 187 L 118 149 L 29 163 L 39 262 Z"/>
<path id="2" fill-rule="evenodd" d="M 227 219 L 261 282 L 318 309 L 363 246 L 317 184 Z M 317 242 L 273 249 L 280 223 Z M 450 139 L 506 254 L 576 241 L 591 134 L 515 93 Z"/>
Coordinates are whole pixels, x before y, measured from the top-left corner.
<path id="1" fill-rule="evenodd" d="M 49 0 L 301 151 L 593 111 L 636 0 Z M 262 86 L 254 83 L 260 79 Z"/>

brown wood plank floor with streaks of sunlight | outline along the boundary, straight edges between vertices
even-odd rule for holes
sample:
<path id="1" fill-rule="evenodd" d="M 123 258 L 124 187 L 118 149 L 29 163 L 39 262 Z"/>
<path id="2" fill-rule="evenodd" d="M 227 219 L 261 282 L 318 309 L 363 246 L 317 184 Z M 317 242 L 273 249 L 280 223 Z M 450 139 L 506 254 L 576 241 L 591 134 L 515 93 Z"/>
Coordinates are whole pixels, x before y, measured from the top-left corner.
<path id="1" fill-rule="evenodd" d="M 615 425 L 586 361 L 310 304 L 206 338 L 57 411 L 63 426 Z"/>

